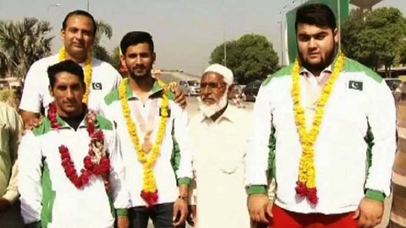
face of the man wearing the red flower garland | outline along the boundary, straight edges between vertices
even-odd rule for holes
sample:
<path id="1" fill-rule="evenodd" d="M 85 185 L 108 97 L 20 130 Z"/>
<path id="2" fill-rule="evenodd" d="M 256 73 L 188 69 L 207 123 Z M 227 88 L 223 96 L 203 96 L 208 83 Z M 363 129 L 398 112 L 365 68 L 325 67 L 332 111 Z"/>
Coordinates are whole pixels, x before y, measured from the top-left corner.
<path id="1" fill-rule="evenodd" d="M 49 91 L 54 97 L 58 115 L 74 117 L 82 114 L 84 84 L 79 77 L 67 72 L 60 72 L 55 77 L 55 84 Z"/>

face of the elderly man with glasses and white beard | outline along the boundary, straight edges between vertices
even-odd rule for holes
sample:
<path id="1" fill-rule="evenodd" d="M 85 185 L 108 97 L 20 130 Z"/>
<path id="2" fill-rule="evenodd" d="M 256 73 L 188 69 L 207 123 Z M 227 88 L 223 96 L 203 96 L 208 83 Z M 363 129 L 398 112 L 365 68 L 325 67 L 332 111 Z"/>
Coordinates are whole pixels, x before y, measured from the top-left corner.
<path id="1" fill-rule="evenodd" d="M 205 105 L 218 104 L 225 95 L 227 84 L 223 76 L 214 72 L 207 72 L 201 77 L 200 99 Z"/>

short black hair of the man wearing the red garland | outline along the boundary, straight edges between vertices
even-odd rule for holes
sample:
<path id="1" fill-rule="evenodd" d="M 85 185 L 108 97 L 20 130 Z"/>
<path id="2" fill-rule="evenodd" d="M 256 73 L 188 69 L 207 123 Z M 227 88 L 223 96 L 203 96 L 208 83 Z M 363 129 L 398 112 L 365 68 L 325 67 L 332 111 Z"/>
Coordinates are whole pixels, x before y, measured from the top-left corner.
<path id="1" fill-rule="evenodd" d="M 85 83 L 85 75 L 83 73 L 82 67 L 79 66 L 78 63 L 76 63 L 70 59 L 58 62 L 58 63 L 50 66 L 48 68 L 47 72 L 48 72 L 48 78 L 49 78 L 49 85 L 51 86 L 51 88 L 53 88 L 55 85 L 56 75 L 61 72 L 67 72 L 67 73 L 76 75 L 79 77 L 79 80 L 82 84 Z"/>

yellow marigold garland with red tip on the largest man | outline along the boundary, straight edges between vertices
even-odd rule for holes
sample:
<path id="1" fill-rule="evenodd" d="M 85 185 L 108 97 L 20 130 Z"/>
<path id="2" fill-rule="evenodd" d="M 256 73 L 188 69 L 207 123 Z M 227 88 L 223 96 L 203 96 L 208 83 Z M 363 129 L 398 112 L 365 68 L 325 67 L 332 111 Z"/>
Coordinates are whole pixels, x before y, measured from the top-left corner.
<path id="1" fill-rule="evenodd" d="M 296 186 L 296 192 L 300 197 L 306 197 L 310 203 L 317 205 L 317 188 L 316 188 L 316 168 L 315 168 L 315 148 L 314 145 L 320 133 L 320 124 L 323 120 L 324 108 L 331 95 L 334 83 L 343 71 L 346 62 L 344 54 L 337 58 L 330 79 L 323 87 L 320 99 L 317 101 L 316 115 L 313 120 L 312 128 L 308 131 L 306 126 L 306 116 L 304 108 L 301 106 L 300 97 L 300 63 L 295 61 L 293 67 L 293 110 L 294 118 L 302 145 L 302 155 L 299 164 L 299 177 Z"/>

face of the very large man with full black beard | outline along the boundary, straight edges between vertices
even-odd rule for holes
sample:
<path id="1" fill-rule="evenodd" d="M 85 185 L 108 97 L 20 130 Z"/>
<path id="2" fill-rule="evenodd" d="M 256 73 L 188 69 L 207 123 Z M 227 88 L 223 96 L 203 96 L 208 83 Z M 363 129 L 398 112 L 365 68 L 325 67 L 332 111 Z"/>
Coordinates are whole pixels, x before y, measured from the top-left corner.
<path id="1" fill-rule="evenodd" d="M 328 67 L 335 55 L 336 46 L 339 42 L 339 32 L 329 27 L 316 25 L 297 25 L 297 46 L 300 58 L 309 70 L 320 70 Z"/>

